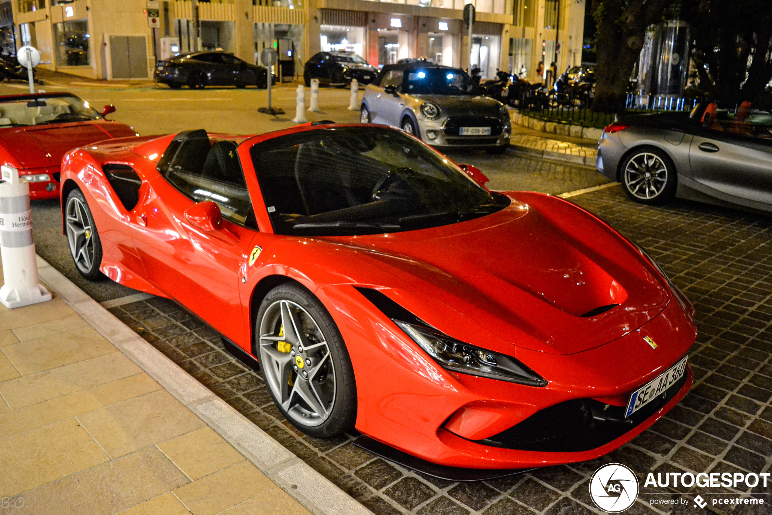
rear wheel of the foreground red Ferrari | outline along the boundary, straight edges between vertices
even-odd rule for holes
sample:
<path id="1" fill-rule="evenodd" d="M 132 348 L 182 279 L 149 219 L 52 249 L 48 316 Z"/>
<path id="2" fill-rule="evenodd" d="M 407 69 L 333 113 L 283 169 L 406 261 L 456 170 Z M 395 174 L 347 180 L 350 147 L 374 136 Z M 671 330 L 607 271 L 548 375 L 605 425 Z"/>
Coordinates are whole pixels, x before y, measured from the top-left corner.
<path id="1" fill-rule="evenodd" d="M 65 232 L 75 268 L 87 280 L 103 279 L 104 275 L 99 269 L 102 264 L 102 242 L 86 197 L 80 189 L 75 188 L 67 195 L 64 206 Z"/>

